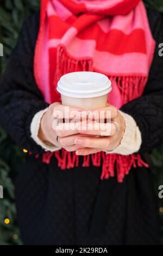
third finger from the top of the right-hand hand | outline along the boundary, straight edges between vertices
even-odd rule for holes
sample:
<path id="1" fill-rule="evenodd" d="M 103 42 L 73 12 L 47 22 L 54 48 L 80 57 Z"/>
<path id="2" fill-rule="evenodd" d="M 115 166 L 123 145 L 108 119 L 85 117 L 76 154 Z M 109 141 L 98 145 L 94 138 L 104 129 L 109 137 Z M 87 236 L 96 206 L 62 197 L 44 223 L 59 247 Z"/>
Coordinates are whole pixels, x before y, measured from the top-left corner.
<path id="1" fill-rule="evenodd" d="M 110 147 L 110 138 L 91 138 L 91 137 L 77 137 L 75 140 L 77 146 L 90 147 L 90 148 L 101 148 L 106 149 Z"/>

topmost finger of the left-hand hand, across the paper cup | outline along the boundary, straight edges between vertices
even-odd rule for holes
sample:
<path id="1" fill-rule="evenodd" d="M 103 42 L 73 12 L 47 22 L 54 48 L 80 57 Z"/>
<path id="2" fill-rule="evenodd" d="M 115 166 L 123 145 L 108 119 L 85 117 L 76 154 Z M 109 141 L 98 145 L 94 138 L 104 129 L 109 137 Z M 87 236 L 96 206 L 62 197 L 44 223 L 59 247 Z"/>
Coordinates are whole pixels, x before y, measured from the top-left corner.
<path id="1" fill-rule="evenodd" d="M 58 104 L 55 105 L 53 108 L 53 117 L 58 119 L 80 117 L 82 111 L 84 110 L 79 108 L 73 108 L 72 106 Z"/>

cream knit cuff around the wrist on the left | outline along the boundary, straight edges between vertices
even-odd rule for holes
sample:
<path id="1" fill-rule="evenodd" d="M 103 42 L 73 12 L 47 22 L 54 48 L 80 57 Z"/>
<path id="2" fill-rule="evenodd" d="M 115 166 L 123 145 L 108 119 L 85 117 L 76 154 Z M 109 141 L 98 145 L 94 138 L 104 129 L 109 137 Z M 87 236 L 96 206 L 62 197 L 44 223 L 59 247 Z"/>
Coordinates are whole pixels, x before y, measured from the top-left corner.
<path id="1" fill-rule="evenodd" d="M 35 116 L 33 117 L 32 123 L 30 125 L 30 133 L 31 133 L 32 139 L 36 142 L 37 145 L 41 146 L 43 148 L 43 150 L 54 152 L 54 151 L 60 150 L 61 148 L 57 147 L 51 143 L 44 142 L 44 141 L 40 140 L 39 136 L 38 136 L 41 118 L 47 110 L 48 110 L 48 108 L 41 110 L 35 114 Z"/>

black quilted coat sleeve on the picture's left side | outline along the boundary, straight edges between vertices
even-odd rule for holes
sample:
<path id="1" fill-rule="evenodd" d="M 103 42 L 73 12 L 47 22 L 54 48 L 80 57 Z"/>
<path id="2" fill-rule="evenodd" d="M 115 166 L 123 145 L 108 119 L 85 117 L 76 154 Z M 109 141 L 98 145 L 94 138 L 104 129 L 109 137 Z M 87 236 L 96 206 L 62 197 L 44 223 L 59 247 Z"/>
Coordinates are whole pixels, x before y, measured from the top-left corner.
<path id="1" fill-rule="evenodd" d="M 39 29 L 39 14 L 24 23 L 18 44 L 0 79 L 0 125 L 22 148 L 40 153 L 42 148 L 31 138 L 34 115 L 47 108 L 33 75 L 34 49 Z"/>

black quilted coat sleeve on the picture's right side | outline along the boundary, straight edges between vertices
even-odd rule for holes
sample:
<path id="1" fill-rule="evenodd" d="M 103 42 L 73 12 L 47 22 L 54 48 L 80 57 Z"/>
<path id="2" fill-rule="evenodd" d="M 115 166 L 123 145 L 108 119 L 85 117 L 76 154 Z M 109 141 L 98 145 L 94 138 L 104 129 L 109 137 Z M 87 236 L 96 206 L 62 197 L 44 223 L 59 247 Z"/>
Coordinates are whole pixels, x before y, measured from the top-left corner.
<path id="1" fill-rule="evenodd" d="M 159 44 L 163 43 L 163 22 L 161 15 L 159 17 L 154 27 L 154 59 L 143 96 L 121 109 L 134 118 L 140 129 L 140 153 L 150 153 L 163 142 L 163 57 L 159 56 Z"/>

